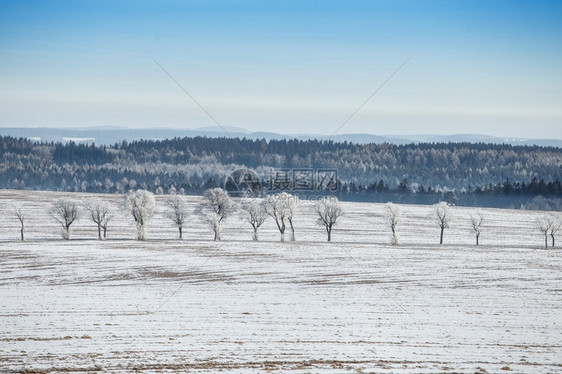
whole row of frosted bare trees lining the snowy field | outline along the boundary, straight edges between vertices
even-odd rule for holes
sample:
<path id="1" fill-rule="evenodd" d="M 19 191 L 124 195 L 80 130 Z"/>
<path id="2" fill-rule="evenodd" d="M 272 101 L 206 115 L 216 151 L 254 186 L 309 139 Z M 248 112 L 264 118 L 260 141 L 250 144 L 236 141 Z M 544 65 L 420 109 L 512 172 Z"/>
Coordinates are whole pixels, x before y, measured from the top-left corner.
<path id="1" fill-rule="evenodd" d="M 299 206 L 299 197 L 286 192 L 266 196 L 264 198 L 242 198 L 239 205 L 231 199 L 228 192 L 222 188 L 208 189 L 203 195 L 201 203 L 196 209 L 199 218 L 209 226 L 214 233 L 214 240 L 221 240 L 222 223 L 236 215 L 243 217 L 252 228 L 253 240 L 258 240 L 260 227 L 267 219 L 273 219 L 279 230 L 282 242 L 286 240 L 285 233 L 290 231 L 290 240 L 295 241 L 294 216 Z M 183 238 L 183 228 L 192 215 L 185 199 L 173 195 L 166 200 L 166 217 L 177 227 L 179 238 Z M 237 207 L 240 207 L 237 209 Z M 154 214 L 156 199 L 154 194 L 146 190 L 131 191 L 125 195 L 122 208 L 130 214 L 135 222 L 138 240 L 146 239 L 146 228 L 151 216 Z M 85 207 L 87 217 L 97 225 L 98 238 L 107 238 L 108 226 L 113 218 L 110 206 L 105 202 L 95 199 Z M 21 224 L 21 240 L 24 240 L 26 212 L 21 206 L 14 206 L 13 212 Z M 337 197 L 321 197 L 316 203 L 317 223 L 326 231 L 327 240 L 332 240 L 332 230 L 337 225 L 339 218 L 344 215 L 344 210 Z M 73 200 L 59 199 L 49 210 L 49 215 L 62 228 L 62 237 L 70 239 L 72 224 L 83 214 L 81 207 Z M 240 215 L 241 214 L 241 215 Z M 392 234 L 393 245 L 398 245 L 399 226 L 402 219 L 400 205 L 387 203 L 385 205 L 385 222 Z M 447 202 L 439 202 L 433 206 L 432 220 L 439 227 L 439 244 L 444 242 L 444 233 L 450 226 L 451 211 Z M 481 212 L 470 216 L 470 226 L 474 231 L 476 245 L 479 245 L 480 234 L 485 226 L 485 217 Z M 556 234 L 562 227 L 559 215 L 547 214 L 537 220 L 537 229 L 544 235 L 544 245 L 548 248 L 549 238 L 552 247 L 555 246 Z"/>

